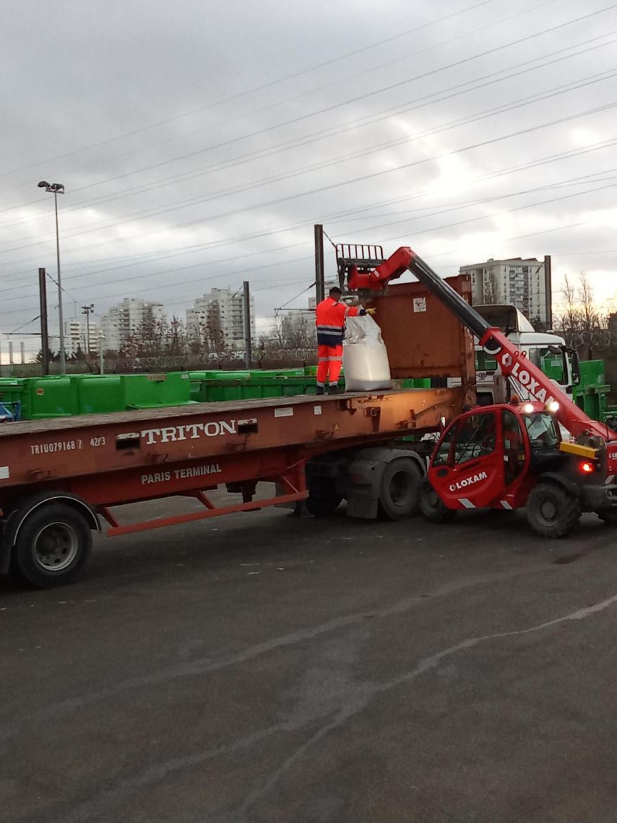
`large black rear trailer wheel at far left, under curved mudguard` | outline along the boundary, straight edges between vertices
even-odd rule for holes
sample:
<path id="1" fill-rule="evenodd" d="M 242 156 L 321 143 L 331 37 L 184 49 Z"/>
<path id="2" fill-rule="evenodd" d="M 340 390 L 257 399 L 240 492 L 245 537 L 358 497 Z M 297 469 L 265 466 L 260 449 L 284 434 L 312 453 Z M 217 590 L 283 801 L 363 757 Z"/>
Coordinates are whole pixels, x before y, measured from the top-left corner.
<path id="1" fill-rule="evenodd" d="M 72 583 L 92 554 L 90 523 L 63 503 L 37 507 L 21 524 L 12 551 L 12 573 L 36 588 Z"/>

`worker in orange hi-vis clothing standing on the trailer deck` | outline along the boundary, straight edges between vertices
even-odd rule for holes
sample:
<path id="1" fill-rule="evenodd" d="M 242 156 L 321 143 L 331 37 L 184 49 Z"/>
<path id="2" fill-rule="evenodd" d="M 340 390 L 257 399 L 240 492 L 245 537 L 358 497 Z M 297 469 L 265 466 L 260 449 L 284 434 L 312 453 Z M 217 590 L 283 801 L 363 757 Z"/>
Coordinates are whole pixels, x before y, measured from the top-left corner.
<path id="1" fill-rule="evenodd" d="M 343 337 L 345 321 L 348 317 L 362 314 L 374 314 L 375 309 L 363 309 L 357 301 L 354 305 L 341 303 L 341 289 L 336 286 L 315 309 L 317 326 L 317 393 L 336 394 L 338 378 L 343 365 Z"/>

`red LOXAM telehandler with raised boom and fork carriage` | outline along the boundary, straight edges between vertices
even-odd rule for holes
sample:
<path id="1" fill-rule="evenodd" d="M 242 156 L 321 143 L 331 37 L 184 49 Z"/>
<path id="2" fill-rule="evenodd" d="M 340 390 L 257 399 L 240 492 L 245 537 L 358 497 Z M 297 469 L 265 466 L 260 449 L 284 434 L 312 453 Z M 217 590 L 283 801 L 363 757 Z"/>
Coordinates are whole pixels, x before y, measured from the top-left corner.
<path id="1" fill-rule="evenodd" d="M 358 248 L 380 250 L 341 247 L 339 274 L 350 291 L 383 292 L 411 272 L 479 338 L 514 391 L 533 398 L 475 407 L 452 421 L 429 462 L 420 493 L 424 517 L 438 522 L 464 509 L 526 508 L 531 528 L 543 537 L 564 537 L 582 512 L 617 523 L 617 433 L 587 417 L 412 249 L 379 260 L 373 252 L 349 254 Z M 564 442 L 560 426 L 572 441 Z"/>

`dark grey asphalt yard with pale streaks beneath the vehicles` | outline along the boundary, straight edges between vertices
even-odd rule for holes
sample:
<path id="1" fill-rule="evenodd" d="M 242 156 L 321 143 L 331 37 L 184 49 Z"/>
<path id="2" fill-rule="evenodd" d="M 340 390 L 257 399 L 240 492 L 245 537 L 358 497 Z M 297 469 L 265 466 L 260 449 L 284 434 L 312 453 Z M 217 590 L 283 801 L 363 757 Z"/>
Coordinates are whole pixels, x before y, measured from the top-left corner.
<path id="1" fill-rule="evenodd" d="M 2 580 L 0 819 L 617 821 L 616 542 L 265 509 Z"/>

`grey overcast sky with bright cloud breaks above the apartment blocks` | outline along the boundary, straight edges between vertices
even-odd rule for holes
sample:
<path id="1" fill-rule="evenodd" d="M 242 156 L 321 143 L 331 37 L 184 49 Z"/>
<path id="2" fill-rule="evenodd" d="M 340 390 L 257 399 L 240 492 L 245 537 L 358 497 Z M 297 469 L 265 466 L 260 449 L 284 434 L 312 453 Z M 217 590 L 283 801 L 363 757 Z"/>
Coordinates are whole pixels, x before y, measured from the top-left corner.
<path id="1" fill-rule="evenodd" d="M 41 179 L 67 317 L 248 280 L 263 328 L 307 305 L 315 222 L 617 291 L 617 3 L 19 0 L 0 61 L 0 332 L 56 275 Z"/>

